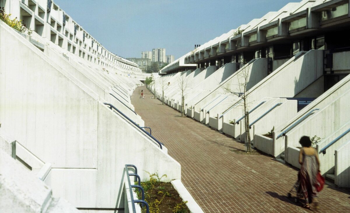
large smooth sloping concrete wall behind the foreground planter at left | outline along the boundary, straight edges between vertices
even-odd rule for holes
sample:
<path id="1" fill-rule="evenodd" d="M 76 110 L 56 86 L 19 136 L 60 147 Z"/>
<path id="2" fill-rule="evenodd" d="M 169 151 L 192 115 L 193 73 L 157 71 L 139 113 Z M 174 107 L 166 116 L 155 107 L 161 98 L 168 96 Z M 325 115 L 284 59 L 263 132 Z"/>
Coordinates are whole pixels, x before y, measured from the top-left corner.
<path id="1" fill-rule="evenodd" d="M 128 163 L 138 166 L 142 179 L 145 171 L 167 174 L 165 181 L 181 178 L 180 164 L 166 148 L 2 25 L 0 42 L 0 133 L 21 144 L 21 159 L 51 163 L 55 195 L 76 207 L 123 207 L 121 173 Z"/>

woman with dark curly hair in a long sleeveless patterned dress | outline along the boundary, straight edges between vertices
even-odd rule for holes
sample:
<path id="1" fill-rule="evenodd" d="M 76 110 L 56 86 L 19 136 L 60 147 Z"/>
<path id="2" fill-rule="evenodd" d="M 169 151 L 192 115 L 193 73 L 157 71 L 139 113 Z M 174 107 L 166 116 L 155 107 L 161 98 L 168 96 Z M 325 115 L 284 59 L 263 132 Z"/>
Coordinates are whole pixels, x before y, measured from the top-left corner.
<path id="1" fill-rule="evenodd" d="M 310 209 L 310 203 L 315 201 L 315 207 L 317 208 L 318 202 L 316 201 L 317 190 L 316 186 L 317 173 L 320 169 L 320 160 L 318 159 L 317 150 L 311 147 L 311 140 L 307 136 L 300 138 L 299 143 L 302 148 L 299 153 L 299 163 L 301 169 L 299 172 L 300 186 L 305 198 L 304 208 Z"/>

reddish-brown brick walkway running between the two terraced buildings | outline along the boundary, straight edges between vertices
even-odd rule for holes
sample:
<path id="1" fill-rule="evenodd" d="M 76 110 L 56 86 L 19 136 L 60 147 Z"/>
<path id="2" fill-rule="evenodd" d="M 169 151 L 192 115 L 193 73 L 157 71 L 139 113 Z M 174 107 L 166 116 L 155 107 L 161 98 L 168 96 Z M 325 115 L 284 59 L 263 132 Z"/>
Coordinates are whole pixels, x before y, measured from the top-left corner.
<path id="1" fill-rule="evenodd" d="M 182 182 L 204 212 L 310 212 L 286 196 L 297 170 L 266 155 L 236 154 L 241 143 L 150 97 L 137 88 L 135 111 L 181 164 Z M 326 185 L 319 201 L 320 212 L 350 212 L 350 190 Z"/>

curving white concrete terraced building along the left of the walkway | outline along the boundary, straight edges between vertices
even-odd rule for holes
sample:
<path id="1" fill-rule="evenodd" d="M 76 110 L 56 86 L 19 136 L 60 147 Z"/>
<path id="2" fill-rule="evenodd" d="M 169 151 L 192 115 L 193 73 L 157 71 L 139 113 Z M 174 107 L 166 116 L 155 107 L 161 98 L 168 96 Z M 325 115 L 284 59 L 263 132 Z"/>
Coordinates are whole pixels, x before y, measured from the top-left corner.
<path id="1" fill-rule="evenodd" d="M 137 64 L 54 1 L 0 7 L 33 30 L 0 21 L 1 212 L 141 212 L 129 174 L 144 181 L 146 171 L 184 188 L 180 164 L 131 104 L 145 79 Z"/>

